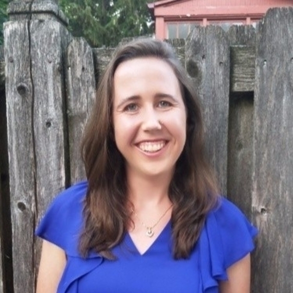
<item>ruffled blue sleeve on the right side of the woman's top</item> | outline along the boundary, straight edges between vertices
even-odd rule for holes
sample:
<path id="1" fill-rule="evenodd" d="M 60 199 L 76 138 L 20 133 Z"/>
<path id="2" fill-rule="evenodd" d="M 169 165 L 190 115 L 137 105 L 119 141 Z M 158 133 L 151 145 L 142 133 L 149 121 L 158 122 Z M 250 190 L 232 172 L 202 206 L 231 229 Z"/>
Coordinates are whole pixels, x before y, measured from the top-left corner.
<path id="1" fill-rule="evenodd" d="M 204 293 L 217 293 L 227 269 L 254 249 L 257 229 L 230 201 L 221 198 L 209 212 L 199 239 L 201 281 Z"/>

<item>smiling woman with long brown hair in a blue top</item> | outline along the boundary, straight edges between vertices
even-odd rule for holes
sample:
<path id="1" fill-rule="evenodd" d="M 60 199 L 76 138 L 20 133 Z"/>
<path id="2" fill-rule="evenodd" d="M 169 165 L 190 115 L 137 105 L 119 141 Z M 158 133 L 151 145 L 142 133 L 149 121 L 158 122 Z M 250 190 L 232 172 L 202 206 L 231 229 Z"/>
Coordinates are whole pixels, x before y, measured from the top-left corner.
<path id="1" fill-rule="evenodd" d="M 256 230 L 218 196 L 201 109 L 165 42 L 116 51 L 82 144 L 87 182 L 37 234 L 37 292 L 249 293 Z"/>

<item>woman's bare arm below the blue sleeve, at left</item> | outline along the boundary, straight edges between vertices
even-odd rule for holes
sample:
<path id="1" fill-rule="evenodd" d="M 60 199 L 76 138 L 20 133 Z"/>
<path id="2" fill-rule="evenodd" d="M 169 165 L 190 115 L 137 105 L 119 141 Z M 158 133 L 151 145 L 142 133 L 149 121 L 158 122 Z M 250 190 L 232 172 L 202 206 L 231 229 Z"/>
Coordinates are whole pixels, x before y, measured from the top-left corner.
<path id="1" fill-rule="evenodd" d="M 65 252 L 55 244 L 43 240 L 37 293 L 56 293 L 65 265 Z"/>

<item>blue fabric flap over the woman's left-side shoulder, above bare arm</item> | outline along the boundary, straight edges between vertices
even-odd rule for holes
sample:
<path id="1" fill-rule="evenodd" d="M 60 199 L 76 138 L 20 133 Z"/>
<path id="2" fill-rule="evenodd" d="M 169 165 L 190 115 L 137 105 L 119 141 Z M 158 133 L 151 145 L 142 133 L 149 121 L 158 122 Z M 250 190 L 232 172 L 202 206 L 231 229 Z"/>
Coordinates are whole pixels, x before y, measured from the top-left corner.
<path id="1" fill-rule="evenodd" d="M 81 182 L 58 194 L 42 217 L 36 235 L 59 246 L 67 254 L 77 254 L 86 190 L 87 182 Z"/>

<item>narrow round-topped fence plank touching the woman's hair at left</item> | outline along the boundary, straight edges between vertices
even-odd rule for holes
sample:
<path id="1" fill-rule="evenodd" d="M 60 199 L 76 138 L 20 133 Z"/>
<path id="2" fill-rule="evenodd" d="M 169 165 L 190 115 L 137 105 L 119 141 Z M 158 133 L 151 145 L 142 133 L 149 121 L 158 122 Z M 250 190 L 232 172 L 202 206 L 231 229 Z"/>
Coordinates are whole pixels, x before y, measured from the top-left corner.
<path id="1" fill-rule="evenodd" d="M 83 38 L 74 38 L 66 53 L 66 99 L 71 183 L 85 179 L 80 143 L 96 96 L 93 52 Z"/>

